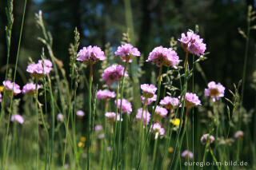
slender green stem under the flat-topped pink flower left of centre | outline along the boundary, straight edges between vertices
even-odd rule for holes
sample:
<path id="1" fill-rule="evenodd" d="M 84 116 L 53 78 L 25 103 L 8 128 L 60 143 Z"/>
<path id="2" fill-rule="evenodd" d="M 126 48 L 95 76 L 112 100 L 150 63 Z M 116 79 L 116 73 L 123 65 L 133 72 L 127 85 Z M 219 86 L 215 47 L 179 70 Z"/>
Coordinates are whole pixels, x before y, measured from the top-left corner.
<path id="1" fill-rule="evenodd" d="M 89 95 L 88 95 L 88 126 L 87 126 L 87 169 L 90 170 L 90 121 L 91 121 L 91 89 L 93 82 L 93 63 L 90 63 L 90 83 L 89 83 Z"/>

